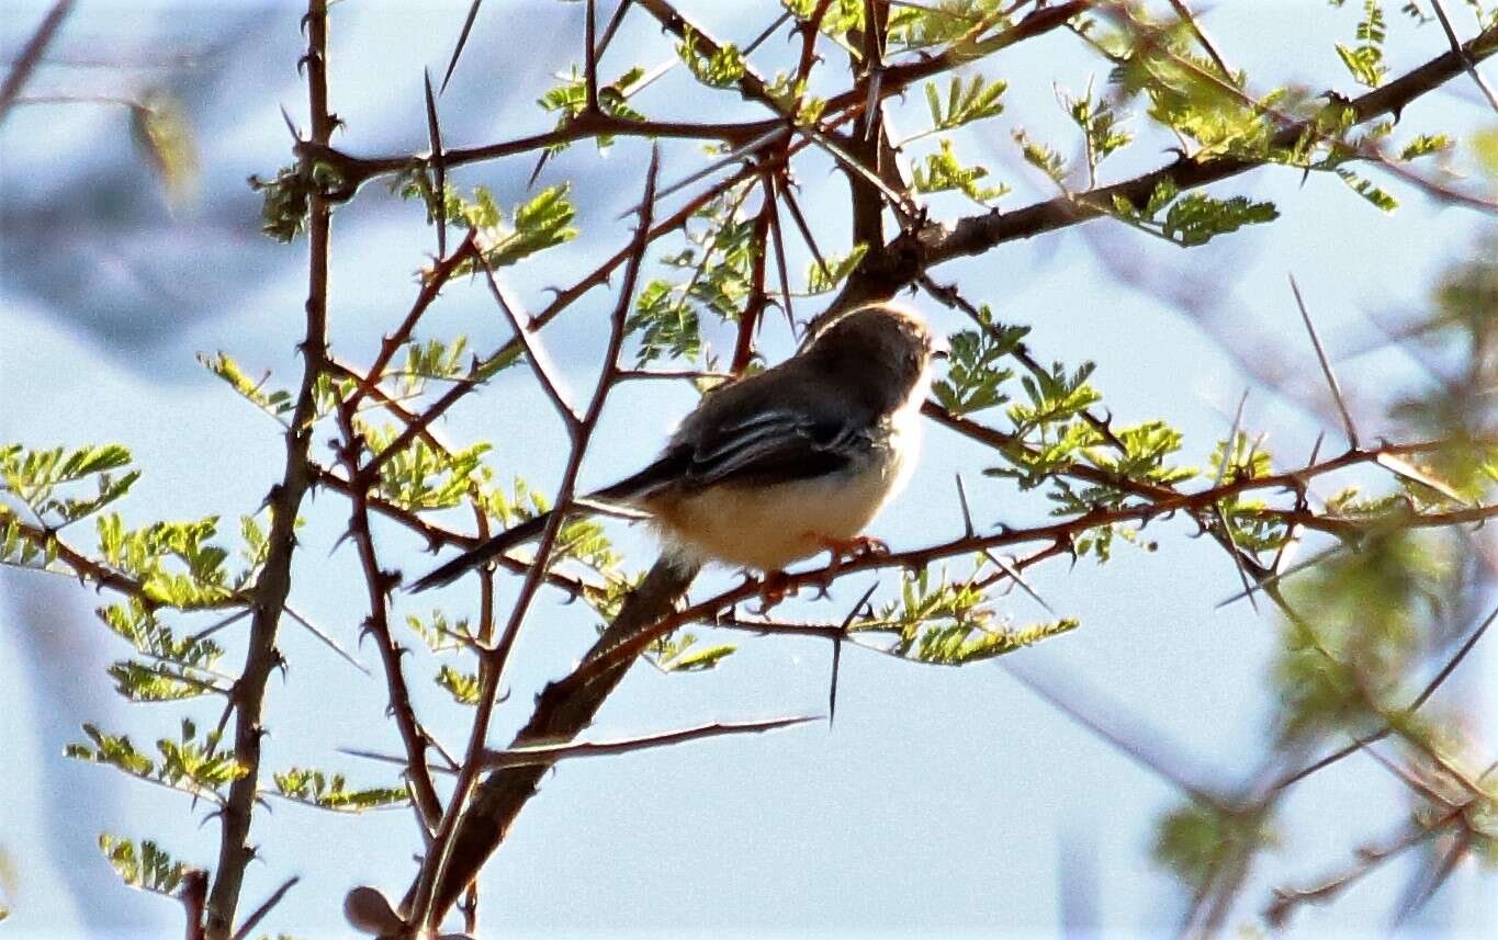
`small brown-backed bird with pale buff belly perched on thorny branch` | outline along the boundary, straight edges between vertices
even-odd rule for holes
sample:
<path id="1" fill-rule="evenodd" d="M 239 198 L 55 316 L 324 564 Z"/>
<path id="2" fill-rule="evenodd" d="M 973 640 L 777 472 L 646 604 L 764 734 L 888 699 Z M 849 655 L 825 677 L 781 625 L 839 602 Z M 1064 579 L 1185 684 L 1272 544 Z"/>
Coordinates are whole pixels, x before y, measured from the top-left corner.
<path id="1" fill-rule="evenodd" d="M 930 362 L 945 344 L 912 310 L 860 307 L 774 368 L 709 392 L 653 464 L 586 501 L 647 513 L 701 560 L 777 573 L 861 536 L 920 448 Z M 416 581 L 424 591 L 538 537 L 550 513 L 508 528 Z"/>

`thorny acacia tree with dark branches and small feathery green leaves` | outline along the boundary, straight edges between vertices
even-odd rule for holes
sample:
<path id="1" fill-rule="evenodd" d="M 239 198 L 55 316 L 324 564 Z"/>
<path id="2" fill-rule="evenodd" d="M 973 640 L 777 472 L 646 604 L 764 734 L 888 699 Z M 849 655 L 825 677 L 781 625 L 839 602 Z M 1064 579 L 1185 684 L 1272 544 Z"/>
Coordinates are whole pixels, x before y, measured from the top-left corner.
<path id="1" fill-rule="evenodd" d="M 57 4 L 12 66 L 0 114 L 67 6 Z M 733 653 L 731 645 L 700 642 L 685 629 L 828 639 L 831 708 L 845 644 L 960 666 L 1043 642 L 1077 621 L 1014 627 L 996 612 L 1010 588 L 1032 593 L 1028 572 L 1080 557 L 1106 563 L 1121 540 L 1147 545 L 1147 525 L 1183 518 L 1231 566 L 1243 599 L 1281 624 L 1270 680 L 1279 706 L 1252 772 L 1228 792 L 1156 768 L 1185 798 L 1159 822 L 1156 841 L 1158 859 L 1189 898 L 1183 933 L 1218 933 L 1231 916 L 1248 916 L 1240 903 L 1257 904 L 1267 922 L 1281 925 L 1299 904 L 1333 900 L 1386 859 L 1422 846 L 1438 850 L 1428 856 L 1426 879 L 1405 909 L 1435 894 L 1465 859 L 1491 862 L 1498 856 L 1498 777 L 1477 744 L 1464 738 L 1462 715 L 1438 712 L 1428 701 L 1494 620 L 1480 606 L 1495 570 L 1491 536 L 1480 527 L 1498 513 L 1491 504 L 1498 479 L 1491 407 L 1498 263 L 1485 254 L 1455 265 L 1429 314 L 1404 334 L 1407 343 L 1423 344 L 1416 349 L 1437 350 L 1441 361 L 1432 365 L 1434 380 L 1398 404 L 1393 418 L 1404 433 L 1392 440 L 1357 427 L 1314 314 L 1291 281 L 1287 298 L 1299 304 L 1327 401 L 1336 407 L 1335 431 L 1302 458 L 1270 454 L 1267 428 L 1249 427 L 1242 406 L 1215 442 L 1186 442 L 1168 415 L 1115 419 L 1094 385 L 1085 341 L 1068 350 L 1076 361 L 1046 362 L 1026 344 L 1028 326 L 990 307 L 996 299 L 984 293 L 990 286 L 971 289 L 941 271 L 944 262 L 1092 220 L 1182 248 L 1228 238 L 1243 226 L 1269 225 L 1282 211 L 1221 187 L 1204 189 L 1251 172 L 1333 174 L 1347 183 L 1350 199 L 1386 211 L 1396 207 L 1386 187 L 1402 187 L 1491 213 L 1498 205 L 1482 178 L 1461 177 L 1456 162 L 1476 154 L 1482 168 L 1486 154 L 1488 172 L 1498 172 L 1492 141 L 1408 129 L 1399 117 L 1452 82 L 1476 82 L 1494 102 L 1477 64 L 1498 51 L 1498 12 L 1467 3 L 1467 19 L 1476 13 L 1477 30 L 1464 39 L 1440 0 L 1402 4 L 1387 15 L 1416 27 L 1411 34 L 1443 30 L 1450 48 L 1392 73 L 1383 7 L 1368 0 L 1356 10 L 1350 42 L 1333 40 L 1347 90 L 1314 94 L 1234 69 L 1230 45 L 1213 42 L 1182 0 L 785 0 L 764 3 L 762 31 L 742 46 L 716 37 L 685 4 L 589 0 L 578 64 L 539 102 L 553 126 L 458 148 L 445 142 L 440 100 L 449 81 L 461 81 L 463 57 L 473 55 L 469 30 L 488 13 L 475 0 L 466 22 L 454 24 L 458 39 L 440 81 L 427 79 L 430 148 L 363 156 L 357 141 L 334 142 L 334 108 L 339 84 L 357 82 L 364 66 L 351 63 L 345 72 L 330 58 L 330 18 L 336 21 L 337 9 L 310 0 L 300 63 L 307 123 L 288 118 L 294 162 L 252 180 L 264 195 L 264 232 L 307 245 L 303 371 L 292 386 L 277 389 L 228 353 L 204 358 L 210 371 L 285 428 L 285 466 L 262 512 L 241 518 L 237 540 L 220 533 L 216 516 L 129 528 L 111 507 L 139 476 L 124 446 L 0 446 L 6 497 L 0 560 L 63 572 L 112 596 L 99 615 L 133 647 L 109 671 L 126 699 L 222 698 L 213 727 L 181 718 L 180 736 L 159 741 L 156 753 L 96 726 L 85 726 L 87 742 L 69 748 L 78 759 L 112 765 L 211 807 L 219 858 L 186 865 L 153 841 L 111 835 L 100 837 L 105 853 L 129 883 L 178 897 L 189 937 L 241 937 L 295 882 L 255 907 L 241 900 L 255 856 L 252 823 L 264 796 L 340 811 L 404 805 L 416 823 L 419 861 L 391 873 L 379 889 L 352 888 L 351 922 L 380 936 L 431 936 L 457 909 L 472 934 L 481 900 L 475 877 L 557 762 L 806 720 L 580 738 L 640 659 L 664 671 L 700 671 Z M 614 37 L 628 18 L 653 21 L 661 48 L 617 48 Z M 791 43 L 783 48 L 770 43 L 786 36 Z M 996 183 L 998 168 L 972 162 L 969 151 L 1002 127 L 1010 84 L 1052 81 L 999 78 L 1007 75 L 1005 52 L 1058 37 L 1097 64 L 1100 81 L 1082 94 L 1058 93 L 1071 138 L 1007 129 L 1014 153 L 1055 190 L 1017 205 L 1007 199 L 1008 186 Z M 661 66 L 637 64 L 653 55 L 664 57 Z M 614 64 L 620 60 L 625 67 Z M 758 117 L 719 123 L 664 117 L 668 103 L 652 102 L 649 87 L 671 67 L 688 70 L 704 94 L 740 99 Z M 920 130 L 902 136 L 894 129 L 911 123 Z M 466 190 L 452 177 L 460 168 L 520 159 L 533 162 L 535 180 L 566 147 L 652 147 L 652 141 L 670 159 L 662 162 L 658 150 L 635 183 L 632 231 L 617 251 L 559 286 L 545 307 L 524 310 L 508 286 L 523 271 L 511 268 L 542 251 L 568 250 L 575 235 L 569 186 L 538 189 L 505 211 L 487 189 Z M 1162 144 L 1173 150 L 1162 162 L 1110 175 L 1113 166 L 1158 154 Z M 1068 150 L 1077 156 L 1064 156 Z M 836 225 L 803 213 L 798 180 L 807 174 L 797 171 L 813 160 L 845 177 L 846 214 Z M 391 311 L 376 353 L 349 362 L 333 352 L 337 331 L 330 310 L 339 302 L 328 277 L 337 250 L 333 220 L 349 202 L 366 199 L 419 205 L 436 253 L 421 268 L 412 296 Z M 804 274 L 788 260 L 800 253 L 810 257 Z M 427 332 L 427 314 L 443 293 L 457 290 L 490 295 L 511 325 L 511 338 L 473 355 L 466 337 Z M 971 442 L 974 473 L 1007 480 L 1020 494 L 1016 498 L 1044 507 L 1049 521 L 984 525 L 980 519 L 995 513 L 969 506 L 959 482 L 962 527 L 932 530 L 915 548 L 792 572 L 789 585 L 807 590 L 836 587 L 860 572 L 885 576 L 852 606 L 789 620 L 779 609 L 752 608 L 759 593 L 753 578 L 689 596 L 695 569 L 668 557 L 653 564 L 622 557 L 610 542 L 611 524 L 587 516 L 595 507 L 580 501 L 578 479 L 620 385 L 680 380 L 706 394 L 761 367 L 758 343 L 780 317 L 797 329 L 815 328 L 905 290 L 966 319 L 951 335 L 951 365 L 926 416 Z M 611 295 L 611 316 L 596 328 L 596 383 L 575 397 L 547 353 L 547 328 L 593 292 Z M 733 343 L 719 356 L 704 335 L 724 328 Z M 439 436 L 443 415 L 484 395 L 503 370 L 527 370 L 556 413 L 566 460 L 554 492 L 521 482 L 500 485 L 487 442 L 448 445 Z M 1191 454 L 1201 469 L 1189 466 Z M 1324 482 L 1357 471 L 1365 486 L 1372 480 L 1371 491 L 1350 486 L 1318 495 Z M 355 789 L 321 769 L 276 771 L 273 753 L 262 750 L 270 680 L 283 663 L 279 632 L 288 623 L 316 630 L 292 606 L 292 560 L 312 548 L 307 534 L 298 536 L 298 513 L 318 489 L 348 506 L 346 531 L 330 543 L 351 542 L 363 570 L 360 590 L 351 584 L 345 593 L 361 608 L 361 636 L 379 651 L 388 709 L 403 744 L 400 756 L 386 757 L 400 768 L 397 784 Z M 452 591 L 452 611 L 475 615 L 412 612 L 391 561 L 400 530 L 433 549 L 470 548 L 496 525 L 547 506 L 572 512 L 554 513 L 533 549 L 499 558 L 472 585 Z M 472 522 L 464 525 L 457 510 Z M 93 522 L 94 539 L 76 534 L 84 521 Z M 231 563 L 231 548 L 240 549 L 240 561 Z M 518 579 L 518 593 L 500 603 L 499 582 L 508 578 Z M 604 626 L 575 669 L 539 690 L 511 745 L 496 748 L 490 724 L 506 666 L 542 591 L 580 600 Z M 1452 621 L 1462 626 L 1455 639 Z M 222 644 L 219 632 L 231 624 L 241 635 Z M 406 657 L 412 638 L 443 660 L 437 684 L 472 709 L 461 748 L 436 741 L 430 718 L 413 705 L 410 683 L 428 666 Z M 225 672 L 229 645 L 238 665 Z M 1067 695 L 1041 692 L 1089 721 Z M 1330 879 L 1282 889 L 1267 907 L 1261 898 L 1243 898 L 1285 793 L 1384 739 L 1396 744 L 1396 756 L 1372 753 L 1408 784 L 1417 805 L 1401 832 L 1360 849 Z M 1116 744 L 1143 757 L 1129 741 Z"/>

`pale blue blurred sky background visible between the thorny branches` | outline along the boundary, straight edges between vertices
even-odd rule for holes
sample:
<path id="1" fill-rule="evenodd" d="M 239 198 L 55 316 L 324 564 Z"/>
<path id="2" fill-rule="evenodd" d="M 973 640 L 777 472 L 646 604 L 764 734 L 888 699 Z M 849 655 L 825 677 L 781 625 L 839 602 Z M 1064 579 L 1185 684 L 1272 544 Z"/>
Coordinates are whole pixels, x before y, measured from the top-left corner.
<path id="1" fill-rule="evenodd" d="M 348 121 L 337 144 L 358 154 L 425 148 L 421 69 L 446 63 L 466 3 L 343 3 L 334 7 L 333 108 Z M 611 4 L 602 4 L 605 10 Z M 750 4 L 683 3 L 719 36 L 748 42 L 765 22 Z M 1395 31 L 1390 70 L 1402 72 L 1446 48 L 1432 25 Z M 1452 4 L 1458 6 L 1458 4 Z M 40 15 L 36 3 L 9 4 L 0 51 L 12 57 Z M 282 471 L 279 428 L 195 362 L 195 353 L 228 350 L 252 373 L 271 368 L 295 382 L 292 344 L 301 331 L 306 242 L 279 245 L 258 235 L 258 198 L 249 174 L 271 175 L 288 160 L 285 105 L 306 123 L 306 91 L 294 4 L 88 3 L 69 19 L 31 94 L 118 93 L 169 81 L 187 103 L 202 160 L 196 202 L 166 210 L 150 171 L 135 153 L 121 108 L 76 105 L 21 108 L 0 127 L 0 440 L 30 446 L 120 442 L 145 476 L 121 512 L 129 524 L 156 518 L 252 513 Z M 1465 10 L 1461 10 L 1467 16 Z M 1221 0 L 1203 16 L 1224 54 L 1254 76 L 1312 90 L 1348 90 L 1332 39 L 1348 42 L 1356 10 L 1320 0 Z M 1471 18 L 1462 24 L 1471 31 Z M 443 136 L 467 145 L 550 126 L 535 99 L 550 73 L 575 60 L 581 6 L 490 0 L 484 4 L 454 85 L 442 100 Z M 216 49 L 195 67 L 160 69 L 165 57 Z M 670 55 L 647 18 L 632 15 L 602 70 L 613 78 L 628 61 Z M 771 40 L 773 72 L 791 46 Z M 965 157 L 992 162 L 1016 187 L 1005 207 L 1049 192 L 1017 162 L 1008 127 L 1022 124 L 1050 141 L 1064 136 L 1053 88 L 1073 91 L 1106 67 L 1079 43 L 1055 34 L 1005 52 L 984 66 L 1010 81 L 1007 112 L 995 127 L 965 138 Z M 132 67 L 78 67 L 87 60 Z M 756 58 L 758 61 L 758 58 Z M 138 66 L 138 67 L 136 67 Z M 1044 76 L 1032 79 L 1031 76 Z M 677 70 L 640 99 L 653 117 L 734 120 L 756 114 L 736 97 L 692 93 Z M 924 103 L 911 94 L 897 114 L 903 133 L 921 127 Z M 1135 121 L 1137 124 L 1138 121 Z M 1426 96 L 1410 108 L 1402 133 L 1488 127 L 1470 82 Z M 933 144 L 933 141 L 927 141 Z M 665 148 L 664 177 L 695 165 L 688 145 Z M 542 184 L 572 180 L 581 236 L 508 275 L 508 286 L 536 308 L 545 287 L 569 283 L 628 238 L 616 216 L 638 199 L 649 148 L 622 141 L 607 157 L 572 147 L 551 162 Z M 1141 148 L 1107 166 L 1122 178 L 1164 156 Z M 502 205 L 524 198 L 530 157 L 464 168 L 457 183 L 493 187 Z M 822 245 L 842 250 L 845 183 L 809 160 L 801 201 Z M 1294 271 L 1323 338 L 1338 355 L 1365 434 L 1390 430 L 1383 406 L 1417 376 L 1398 352 L 1341 356 L 1377 335 L 1371 317 L 1422 310 L 1434 278 L 1477 245 L 1482 219 L 1432 204 L 1390 183 L 1404 207 L 1384 216 L 1335 178 L 1302 183 L 1290 171 L 1260 171 L 1213 192 L 1273 199 L 1284 217 L 1179 251 L 1121 226 L 1094 223 L 1059 236 L 1008 244 L 936 271 L 990 302 L 1005 322 L 1034 328 L 1041 359 L 1098 362 L 1095 383 L 1128 424 L 1164 418 L 1186 434 L 1191 463 L 1206 461 L 1225 436 L 1230 412 L 1252 388 L 1245 428 L 1273 428 L 1266 442 L 1287 461 L 1303 460 L 1320 430 L 1335 437 L 1329 401 L 1285 286 Z M 938 204 L 948 216 L 969 213 Z M 410 205 L 370 184 L 336 217 L 331 316 L 337 355 L 367 361 L 380 331 L 413 296 L 413 269 L 433 250 Z M 821 235 L 825 232 L 825 235 Z M 789 239 L 792 269 L 804 251 Z M 1140 283 L 1121 280 L 1119 268 Z M 1152 283 L 1186 284 L 1192 304 L 1170 302 Z M 924 298 L 917 302 L 947 329 L 962 326 Z M 598 329 L 613 305 L 595 290 L 545 331 L 575 389 L 590 388 Z M 803 302 L 798 311 L 815 307 Z M 467 332 L 472 347 L 506 337 L 481 284 L 455 284 L 424 329 Z M 713 337 L 718 349 L 728 332 Z M 792 338 L 773 322 L 764 338 L 771 361 Z M 1269 388 L 1242 361 L 1281 370 Z M 634 469 L 691 409 L 689 388 L 626 385 L 605 415 L 584 485 Z M 449 442 L 493 439 L 500 476 L 523 474 L 542 491 L 559 479 L 563 434 L 523 370 L 511 370 L 457 406 L 440 428 Z M 1332 440 L 1329 437 L 1329 440 Z M 929 451 L 905 497 L 876 522 L 893 546 L 915 546 L 960 525 L 953 473 L 966 469 L 977 521 L 1019 525 L 1041 518 L 1034 494 L 981 479 L 977 452 L 932 428 Z M 1329 488 L 1323 491 L 1323 495 Z M 364 594 L 351 548 L 333 552 L 346 521 L 345 501 L 319 494 L 304 506 L 304 548 L 294 569 L 294 603 L 342 642 L 355 645 Z M 464 524 L 461 515 L 454 524 Z M 79 530 L 78 536 L 88 534 Z M 1118 727 L 1147 738 L 1194 780 L 1224 787 L 1251 774 L 1264 747 L 1273 704 L 1264 675 L 1276 624 L 1246 605 L 1215 609 L 1237 590 L 1222 552 L 1189 539 L 1176 521 L 1152 527 L 1159 551 L 1121 545 L 1106 567 L 1083 561 L 1035 569 L 1034 587 L 1082 629 L 1011 656 L 1005 665 L 1068 690 Z M 431 564 L 421 545 L 392 527 L 376 530 L 386 564 L 409 572 Z M 619 531 L 637 567 L 647 539 Z M 960 570 L 962 561 L 953 563 Z M 731 573 L 695 588 L 706 597 Z M 885 575 L 885 584 L 893 579 Z M 788 614 L 840 620 L 869 585 L 849 578 L 833 600 L 797 602 Z M 512 591 L 515 582 L 506 588 Z M 355 599 L 351 602 L 351 597 Z M 458 609 L 461 591 L 442 596 Z M 94 618 L 106 599 L 66 578 L 0 569 L 0 852 L 12 864 L 4 886 L 13 907 L 3 930 L 19 937 L 177 936 L 181 910 L 157 897 L 124 891 L 94 840 L 111 831 L 154 837 L 171 853 L 211 864 L 217 825 L 202 807 L 99 766 L 61 756 L 81 738 L 82 721 L 129 732 L 147 745 L 174 733 L 178 715 L 211 724 L 219 702 L 127 706 L 112 696 L 103 668 L 126 654 Z M 430 611 L 427 597 L 397 600 L 397 614 Z M 1022 594 L 998 602 L 1019 626 L 1047 620 Z M 1489 600 L 1491 606 L 1491 600 Z M 502 608 L 503 609 L 503 608 Z M 511 698 L 496 712 L 494 742 L 529 715 L 533 693 L 562 675 L 593 638 L 581 608 L 544 594 L 511 660 Z M 589 738 L 616 738 L 712 720 L 767 718 L 825 711 L 830 650 L 780 638 L 718 638 L 740 653 L 703 675 L 659 675 L 637 668 L 608 701 Z M 409 636 L 415 642 L 413 636 Z M 306 632 L 282 627 L 291 662 L 270 690 L 267 769 L 315 765 L 376 786 L 388 769 L 334 753 L 339 747 L 397 750 L 382 712 L 383 684 L 334 659 Z M 240 662 L 231 644 L 225 665 Z M 373 648 L 361 651 L 372 668 Z M 407 660 L 418 711 L 457 745 L 470 712 L 427 683 L 428 657 Z M 1491 645 L 1447 683 L 1438 704 L 1462 706 L 1477 739 L 1492 741 L 1498 657 Z M 1091 921 L 1109 936 L 1170 931 L 1182 910 L 1170 876 L 1149 861 L 1159 813 L 1179 795 L 1016 683 L 998 665 L 941 669 L 849 650 L 842 663 L 834 727 L 727 738 L 607 760 L 569 762 L 550 774 L 482 876 L 485 936 L 1047 936 L 1062 928 L 1062 897 L 1085 898 Z M 1393 831 L 1407 793 L 1368 759 L 1354 757 L 1297 787 L 1278 820 L 1281 847 L 1263 856 L 1233 924 L 1254 915 L 1275 885 L 1308 885 L 1339 870 L 1356 846 Z M 407 811 L 342 817 L 285 802 L 258 816 L 255 840 L 265 864 L 250 867 L 241 910 L 291 874 L 301 883 L 267 922 L 306 937 L 351 936 L 340 904 L 354 885 L 398 895 L 418 849 Z M 1291 936 L 1384 934 L 1410 876 L 1395 862 L 1345 892 L 1330 907 L 1306 907 Z M 1482 936 L 1498 924 L 1494 880 L 1464 865 L 1407 930 Z"/>

